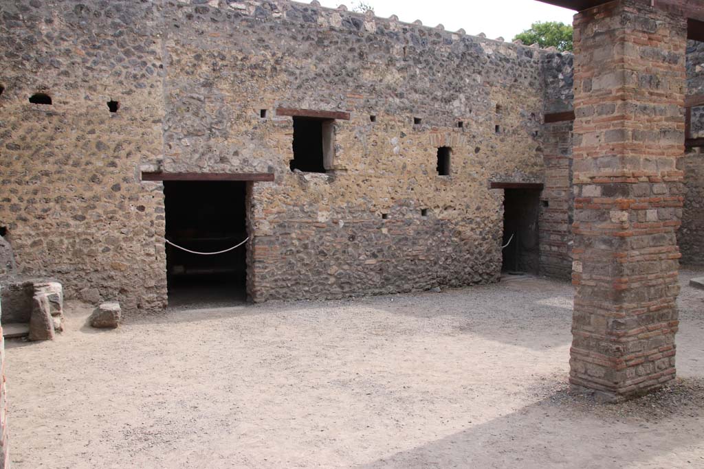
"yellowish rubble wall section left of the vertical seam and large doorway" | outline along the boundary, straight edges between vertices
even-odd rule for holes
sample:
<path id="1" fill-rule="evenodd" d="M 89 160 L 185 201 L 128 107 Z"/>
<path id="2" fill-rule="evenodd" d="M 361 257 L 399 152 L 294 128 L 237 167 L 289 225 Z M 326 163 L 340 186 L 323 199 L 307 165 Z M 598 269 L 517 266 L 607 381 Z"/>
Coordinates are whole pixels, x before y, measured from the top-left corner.
<path id="1" fill-rule="evenodd" d="M 160 8 L 0 4 L 0 226 L 19 273 L 60 279 L 67 297 L 165 302 L 163 194 L 138 174 L 163 154 Z M 52 104 L 28 101 L 39 92 Z"/>

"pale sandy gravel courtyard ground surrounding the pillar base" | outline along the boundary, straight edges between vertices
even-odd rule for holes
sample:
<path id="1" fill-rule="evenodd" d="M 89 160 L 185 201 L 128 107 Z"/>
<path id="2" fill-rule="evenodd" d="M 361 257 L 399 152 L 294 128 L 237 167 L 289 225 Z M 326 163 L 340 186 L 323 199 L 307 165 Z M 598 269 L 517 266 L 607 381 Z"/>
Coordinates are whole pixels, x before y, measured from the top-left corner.
<path id="1" fill-rule="evenodd" d="M 118 330 L 73 304 L 8 341 L 11 461 L 34 468 L 704 468 L 704 291 L 683 271 L 679 378 L 567 391 L 572 287 L 170 311 Z"/>

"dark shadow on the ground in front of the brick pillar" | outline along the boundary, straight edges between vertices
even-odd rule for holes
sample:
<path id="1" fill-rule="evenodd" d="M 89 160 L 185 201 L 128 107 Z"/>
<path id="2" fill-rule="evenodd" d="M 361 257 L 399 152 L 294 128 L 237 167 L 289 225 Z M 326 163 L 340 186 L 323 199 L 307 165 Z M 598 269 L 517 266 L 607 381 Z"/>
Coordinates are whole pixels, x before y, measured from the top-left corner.
<path id="1" fill-rule="evenodd" d="M 557 387 L 514 413 L 356 468 L 704 467 L 703 379 L 621 404 Z"/>

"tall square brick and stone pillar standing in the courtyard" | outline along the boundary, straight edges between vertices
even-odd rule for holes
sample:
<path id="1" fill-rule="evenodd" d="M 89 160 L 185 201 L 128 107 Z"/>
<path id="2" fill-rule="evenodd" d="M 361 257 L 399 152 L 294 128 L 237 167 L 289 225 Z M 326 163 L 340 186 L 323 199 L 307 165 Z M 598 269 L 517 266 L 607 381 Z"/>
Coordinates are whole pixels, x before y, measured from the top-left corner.
<path id="1" fill-rule="evenodd" d="M 574 17 L 570 383 L 609 399 L 675 376 L 686 21 L 649 5 Z"/>

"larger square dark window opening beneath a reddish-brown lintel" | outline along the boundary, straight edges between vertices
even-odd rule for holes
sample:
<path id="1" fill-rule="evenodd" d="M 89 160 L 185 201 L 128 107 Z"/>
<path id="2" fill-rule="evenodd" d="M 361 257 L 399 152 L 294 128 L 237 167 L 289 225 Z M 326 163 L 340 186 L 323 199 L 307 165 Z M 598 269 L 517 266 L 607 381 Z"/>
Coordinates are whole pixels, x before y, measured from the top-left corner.
<path id="1" fill-rule="evenodd" d="M 327 172 L 334 157 L 334 120 L 294 117 L 291 171 Z"/>

